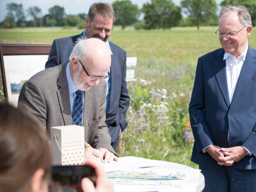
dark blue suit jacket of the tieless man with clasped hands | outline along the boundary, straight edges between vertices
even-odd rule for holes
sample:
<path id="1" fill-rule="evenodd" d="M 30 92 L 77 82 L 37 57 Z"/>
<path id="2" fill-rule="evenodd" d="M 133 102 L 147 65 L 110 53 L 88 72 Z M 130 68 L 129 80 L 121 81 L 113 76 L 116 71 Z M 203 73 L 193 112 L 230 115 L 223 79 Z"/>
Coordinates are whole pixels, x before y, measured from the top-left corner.
<path id="1" fill-rule="evenodd" d="M 256 169 L 256 51 L 248 47 L 231 104 L 224 52 L 218 49 L 198 59 L 189 104 L 195 137 L 191 161 L 216 168 L 219 165 L 202 149 L 209 145 L 243 146 L 252 156 L 234 163 L 234 168 Z"/>

